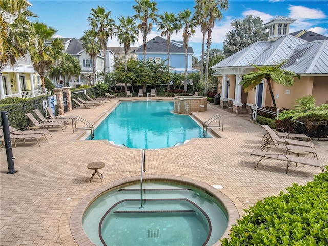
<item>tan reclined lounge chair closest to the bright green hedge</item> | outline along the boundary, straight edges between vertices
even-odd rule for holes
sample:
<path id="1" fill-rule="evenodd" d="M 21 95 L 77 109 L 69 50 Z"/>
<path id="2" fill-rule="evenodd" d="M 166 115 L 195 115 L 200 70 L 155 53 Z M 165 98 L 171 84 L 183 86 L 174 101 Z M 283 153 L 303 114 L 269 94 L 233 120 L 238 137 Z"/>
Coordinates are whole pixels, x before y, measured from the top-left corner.
<path id="1" fill-rule="evenodd" d="M 255 168 L 259 163 L 261 162 L 262 159 L 272 159 L 272 160 L 281 160 L 281 161 L 286 161 L 286 173 L 288 173 L 288 167 L 290 163 L 296 163 L 297 164 L 303 164 L 303 165 L 309 165 L 309 166 L 314 166 L 314 167 L 319 167 L 321 168 L 321 171 L 324 172 L 323 170 L 323 165 L 320 163 L 319 160 L 314 159 L 314 158 L 308 158 L 308 157 L 299 157 L 295 155 L 290 155 L 289 152 L 287 153 L 278 153 L 278 149 L 273 148 L 269 149 L 268 151 L 263 151 L 263 150 L 253 150 L 250 155 L 255 155 L 255 156 L 260 156 L 261 158 L 257 162 Z M 274 150 L 275 152 L 271 152 Z"/>

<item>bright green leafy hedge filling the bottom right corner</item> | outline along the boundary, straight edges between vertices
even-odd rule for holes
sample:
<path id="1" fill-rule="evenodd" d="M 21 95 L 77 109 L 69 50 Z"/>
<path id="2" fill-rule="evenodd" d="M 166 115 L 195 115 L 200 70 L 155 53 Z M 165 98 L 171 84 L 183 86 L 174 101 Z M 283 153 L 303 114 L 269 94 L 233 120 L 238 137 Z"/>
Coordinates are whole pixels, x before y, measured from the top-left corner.
<path id="1" fill-rule="evenodd" d="M 245 210 L 222 245 L 328 245 L 328 172 L 286 190 Z"/>

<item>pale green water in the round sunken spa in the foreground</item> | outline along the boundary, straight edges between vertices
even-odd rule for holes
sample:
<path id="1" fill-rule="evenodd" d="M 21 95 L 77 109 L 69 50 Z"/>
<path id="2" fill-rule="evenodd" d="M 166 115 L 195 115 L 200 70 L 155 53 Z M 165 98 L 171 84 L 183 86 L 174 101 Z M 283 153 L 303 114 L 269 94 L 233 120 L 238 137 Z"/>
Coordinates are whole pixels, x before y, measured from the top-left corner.
<path id="1" fill-rule="evenodd" d="M 140 209 L 139 189 L 117 189 L 90 204 L 82 222 L 96 245 L 213 245 L 227 229 L 222 205 L 206 193 L 171 183 L 144 183 Z"/>

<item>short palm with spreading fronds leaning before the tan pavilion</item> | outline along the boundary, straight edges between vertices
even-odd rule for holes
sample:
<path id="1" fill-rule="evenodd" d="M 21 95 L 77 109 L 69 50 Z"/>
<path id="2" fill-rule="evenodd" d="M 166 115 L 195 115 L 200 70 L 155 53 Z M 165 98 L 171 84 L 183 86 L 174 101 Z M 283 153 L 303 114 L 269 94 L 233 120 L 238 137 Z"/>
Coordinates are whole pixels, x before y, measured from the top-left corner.
<path id="1" fill-rule="evenodd" d="M 240 85 L 244 87 L 245 92 L 248 92 L 255 89 L 256 86 L 259 85 L 263 79 L 265 79 L 268 84 L 273 106 L 277 108 L 276 100 L 272 91 L 272 82 L 275 81 L 277 84 L 292 86 L 294 84 L 294 77 L 299 78 L 299 75 L 294 72 L 280 69 L 280 67 L 285 63 L 286 61 L 282 61 L 275 66 L 264 65 L 262 67 L 252 64 L 252 66 L 257 68 L 258 71 L 243 75 Z"/>

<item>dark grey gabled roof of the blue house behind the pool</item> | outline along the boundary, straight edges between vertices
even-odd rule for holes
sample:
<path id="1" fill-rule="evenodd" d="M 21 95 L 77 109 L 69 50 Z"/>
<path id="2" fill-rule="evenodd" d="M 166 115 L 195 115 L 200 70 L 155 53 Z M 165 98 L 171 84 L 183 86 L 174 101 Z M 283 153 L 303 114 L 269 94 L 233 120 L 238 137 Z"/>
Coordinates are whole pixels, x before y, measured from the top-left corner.
<path id="1" fill-rule="evenodd" d="M 144 53 L 144 45 L 139 46 L 136 53 Z M 154 37 L 146 43 L 146 53 L 168 53 L 168 42 L 160 36 Z M 185 53 L 183 42 L 170 40 L 170 54 Z M 192 47 L 188 47 L 187 53 L 194 53 Z"/>

